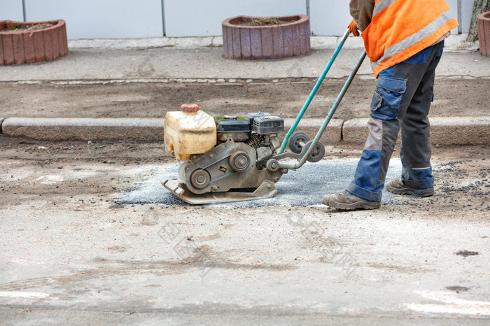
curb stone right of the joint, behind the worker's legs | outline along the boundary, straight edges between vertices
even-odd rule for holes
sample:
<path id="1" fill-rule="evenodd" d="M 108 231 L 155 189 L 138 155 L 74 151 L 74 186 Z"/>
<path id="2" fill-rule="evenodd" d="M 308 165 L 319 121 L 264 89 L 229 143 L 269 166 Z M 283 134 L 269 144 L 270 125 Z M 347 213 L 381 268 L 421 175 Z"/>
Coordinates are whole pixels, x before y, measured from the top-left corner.
<path id="1" fill-rule="evenodd" d="M 347 120 L 342 128 L 346 143 L 365 143 L 368 118 Z M 400 138 L 398 138 L 400 141 Z M 490 116 L 430 118 L 430 141 L 434 145 L 490 144 Z"/>

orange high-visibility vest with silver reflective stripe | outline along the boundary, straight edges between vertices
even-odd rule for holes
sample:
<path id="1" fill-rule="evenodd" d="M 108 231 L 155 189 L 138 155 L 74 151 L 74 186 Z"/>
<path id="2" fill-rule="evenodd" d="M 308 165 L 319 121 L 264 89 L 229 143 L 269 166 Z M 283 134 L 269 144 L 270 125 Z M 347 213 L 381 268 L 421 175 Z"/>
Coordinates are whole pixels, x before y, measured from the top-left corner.
<path id="1" fill-rule="evenodd" d="M 375 0 L 363 31 L 374 75 L 433 45 L 458 27 L 445 0 Z"/>

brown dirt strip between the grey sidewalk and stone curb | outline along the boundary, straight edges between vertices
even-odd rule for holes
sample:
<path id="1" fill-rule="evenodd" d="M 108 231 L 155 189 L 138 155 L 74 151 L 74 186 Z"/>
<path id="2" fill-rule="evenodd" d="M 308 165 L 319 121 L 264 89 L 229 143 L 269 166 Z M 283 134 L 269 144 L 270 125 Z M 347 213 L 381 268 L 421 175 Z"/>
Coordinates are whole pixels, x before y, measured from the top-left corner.
<path id="1" fill-rule="evenodd" d="M 215 114 L 269 112 L 295 118 L 316 79 L 232 80 L 230 83 L 0 83 L 1 118 L 163 118 L 181 104 L 197 103 Z M 344 80 L 323 82 L 305 118 L 326 115 Z M 334 118 L 367 118 L 374 80 L 356 79 Z M 490 115 L 490 80 L 441 78 L 432 117 Z"/>

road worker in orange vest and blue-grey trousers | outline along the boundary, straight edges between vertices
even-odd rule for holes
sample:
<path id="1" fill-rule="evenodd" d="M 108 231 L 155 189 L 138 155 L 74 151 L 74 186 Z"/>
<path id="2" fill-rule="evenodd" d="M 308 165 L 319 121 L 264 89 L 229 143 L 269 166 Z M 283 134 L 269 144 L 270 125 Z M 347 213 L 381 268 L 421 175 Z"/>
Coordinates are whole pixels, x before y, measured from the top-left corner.
<path id="1" fill-rule="evenodd" d="M 402 175 L 386 190 L 428 197 L 434 193 L 430 166 L 429 113 L 435 68 L 444 38 L 458 22 L 445 0 L 351 0 L 349 31 L 361 36 L 377 78 L 363 154 L 346 191 L 322 202 L 341 210 L 381 206 L 386 170 L 401 129 Z"/>

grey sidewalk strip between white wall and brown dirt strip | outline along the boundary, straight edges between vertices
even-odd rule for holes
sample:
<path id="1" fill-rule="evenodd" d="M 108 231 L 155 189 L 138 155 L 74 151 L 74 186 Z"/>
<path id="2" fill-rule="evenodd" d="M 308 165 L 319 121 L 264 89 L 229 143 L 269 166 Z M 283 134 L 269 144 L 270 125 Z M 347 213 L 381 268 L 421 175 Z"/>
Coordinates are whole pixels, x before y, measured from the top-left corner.
<path id="1" fill-rule="evenodd" d="M 309 55 L 240 61 L 223 59 L 223 49 L 216 39 L 70 41 L 69 54 L 53 62 L 1 66 L 0 82 L 178 80 L 212 83 L 230 79 L 318 78 L 339 41 L 338 38 L 312 37 L 313 50 Z M 437 69 L 438 78 L 489 79 L 490 58 L 480 55 L 475 43 L 468 44 L 463 40 L 463 36 L 447 39 L 446 53 Z M 362 50 L 360 38 L 349 38 L 328 73 L 328 78 L 349 76 Z M 358 78 L 374 79 L 367 59 L 361 66 Z"/>

